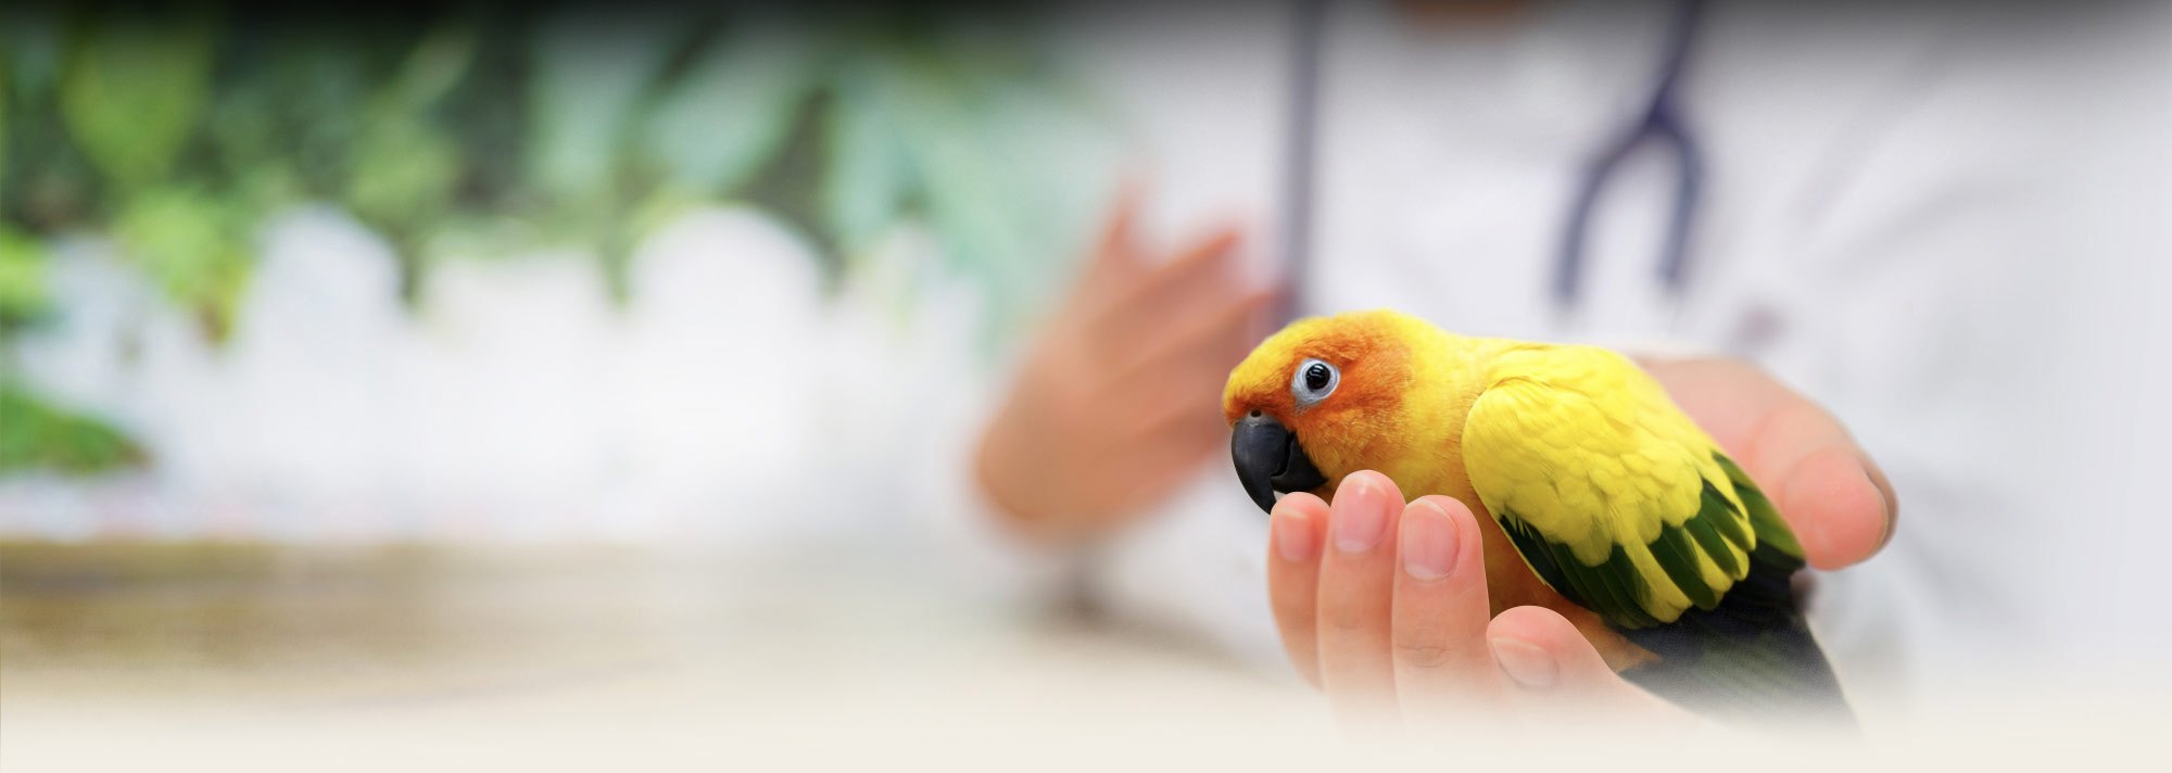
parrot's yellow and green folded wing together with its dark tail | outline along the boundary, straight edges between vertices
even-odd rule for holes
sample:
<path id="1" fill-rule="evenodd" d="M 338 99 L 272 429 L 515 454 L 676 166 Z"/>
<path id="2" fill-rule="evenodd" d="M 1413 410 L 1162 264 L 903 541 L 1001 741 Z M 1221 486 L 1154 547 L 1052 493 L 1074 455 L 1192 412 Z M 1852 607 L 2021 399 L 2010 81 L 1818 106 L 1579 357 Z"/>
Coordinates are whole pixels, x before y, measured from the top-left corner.
<path id="1" fill-rule="evenodd" d="M 1618 354 L 1503 356 L 1464 421 L 1470 486 L 1533 573 L 1705 708 L 1846 712 L 1792 591 L 1803 547 L 1764 491 Z"/>

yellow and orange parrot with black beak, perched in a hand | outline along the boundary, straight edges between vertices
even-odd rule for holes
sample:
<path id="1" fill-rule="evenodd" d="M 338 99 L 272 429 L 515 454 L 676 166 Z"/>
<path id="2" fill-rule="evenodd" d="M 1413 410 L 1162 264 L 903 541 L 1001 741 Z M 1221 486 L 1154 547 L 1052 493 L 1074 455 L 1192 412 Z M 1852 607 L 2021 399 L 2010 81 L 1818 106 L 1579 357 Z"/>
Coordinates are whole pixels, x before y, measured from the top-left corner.
<path id="1" fill-rule="evenodd" d="M 1277 493 L 1331 497 L 1360 469 L 1405 497 L 1455 497 L 1479 517 L 1494 614 L 1553 608 L 1677 704 L 1846 712 L 1790 584 L 1803 547 L 1788 523 L 1616 352 L 1394 311 L 1299 319 L 1229 373 L 1223 415 L 1262 510 Z"/>

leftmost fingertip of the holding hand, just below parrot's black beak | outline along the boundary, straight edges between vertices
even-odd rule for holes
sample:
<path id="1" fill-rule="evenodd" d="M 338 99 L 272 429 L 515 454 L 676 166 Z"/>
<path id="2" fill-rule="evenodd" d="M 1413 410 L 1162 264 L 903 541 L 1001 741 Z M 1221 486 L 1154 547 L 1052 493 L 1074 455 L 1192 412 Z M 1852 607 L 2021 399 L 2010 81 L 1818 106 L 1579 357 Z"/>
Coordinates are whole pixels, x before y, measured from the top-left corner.
<path id="1" fill-rule="evenodd" d="M 1316 632 L 1316 599 L 1321 580 L 1321 541 L 1327 528 L 1327 502 L 1310 493 L 1292 493 L 1275 502 L 1268 517 L 1266 595 L 1281 630 L 1281 651 L 1290 656 L 1297 675 L 1321 686 L 1321 647 Z"/>

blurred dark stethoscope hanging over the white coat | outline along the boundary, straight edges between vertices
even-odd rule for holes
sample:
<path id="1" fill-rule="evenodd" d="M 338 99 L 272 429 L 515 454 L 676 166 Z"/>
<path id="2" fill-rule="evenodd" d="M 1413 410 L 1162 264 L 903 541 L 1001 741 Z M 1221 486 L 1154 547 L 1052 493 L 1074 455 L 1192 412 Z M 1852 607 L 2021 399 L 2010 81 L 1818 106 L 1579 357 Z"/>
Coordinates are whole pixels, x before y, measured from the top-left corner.
<path id="1" fill-rule="evenodd" d="M 1325 0 L 1299 0 L 1295 13 L 1295 52 L 1290 78 L 1290 135 L 1284 145 L 1286 174 L 1281 191 L 1281 235 L 1286 256 L 1288 293 L 1284 293 L 1281 319 L 1295 319 L 1305 308 L 1305 282 L 1312 258 L 1312 182 L 1318 139 L 1318 78 L 1321 43 L 1325 28 Z M 1681 300 L 1690 267 L 1690 219 L 1703 189 L 1703 152 L 1690 135 L 1681 115 L 1679 83 L 1703 15 L 1703 0 L 1683 0 L 1666 35 L 1666 56 L 1659 61 L 1659 76 L 1651 100 L 1618 135 L 1609 137 L 1599 152 L 1586 161 L 1575 193 L 1568 204 L 1568 219 L 1562 224 L 1562 243 L 1553 263 L 1553 306 L 1557 319 L 1568 319 L 1579 308 L 1586 271 L 1586 241 L 1592 213 L 1607 189 L 1607 180 L 1638 150 L 1651 145 L 1672 150 L 1675 159 L 1675 206 L 1666 221 L 1666 237 L 1659 243 L 1657 280 L 1666 295 Z"/>

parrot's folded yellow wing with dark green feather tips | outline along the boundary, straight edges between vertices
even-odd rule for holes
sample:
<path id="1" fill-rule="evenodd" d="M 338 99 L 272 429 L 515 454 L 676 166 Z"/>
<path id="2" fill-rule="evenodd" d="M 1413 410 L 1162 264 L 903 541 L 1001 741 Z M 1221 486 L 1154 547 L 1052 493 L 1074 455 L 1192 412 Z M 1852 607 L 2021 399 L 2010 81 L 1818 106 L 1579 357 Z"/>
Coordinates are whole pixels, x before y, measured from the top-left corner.
<path id="1" fill-rule="evenodd" d="M 1748 573 L 1755 532 L 1716 445 L 1636 363 L 1525 345 L 1486 384 L 1462 432 L 1470 486 L 1555 591 L 1644 628 Z"/>

